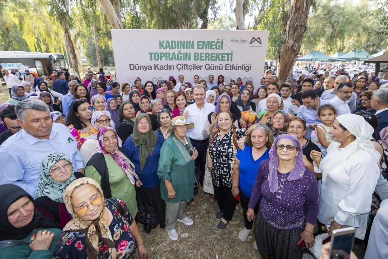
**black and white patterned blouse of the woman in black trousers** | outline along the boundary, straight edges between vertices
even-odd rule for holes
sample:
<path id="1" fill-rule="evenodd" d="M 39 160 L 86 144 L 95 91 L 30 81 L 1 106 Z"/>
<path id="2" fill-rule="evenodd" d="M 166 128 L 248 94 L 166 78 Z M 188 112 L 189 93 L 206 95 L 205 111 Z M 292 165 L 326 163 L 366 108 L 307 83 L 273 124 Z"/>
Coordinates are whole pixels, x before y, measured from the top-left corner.
<path id="1" fill-rule="evenodd" d="M 244 137 L 245 131 L 236 130 L 236 141 Z M 234 150 L 235 149 L 235 150 Z M 209 146 L 209 153 L 213 162 L 212 179 L 215 186 L 232 186 L 231 172 L 234 161 L 236 160 L 237 148 L 233 144 L 233 133 L 230 130 L 222 139 L 220 134 L 215 136 L 213 142 Z"/>

